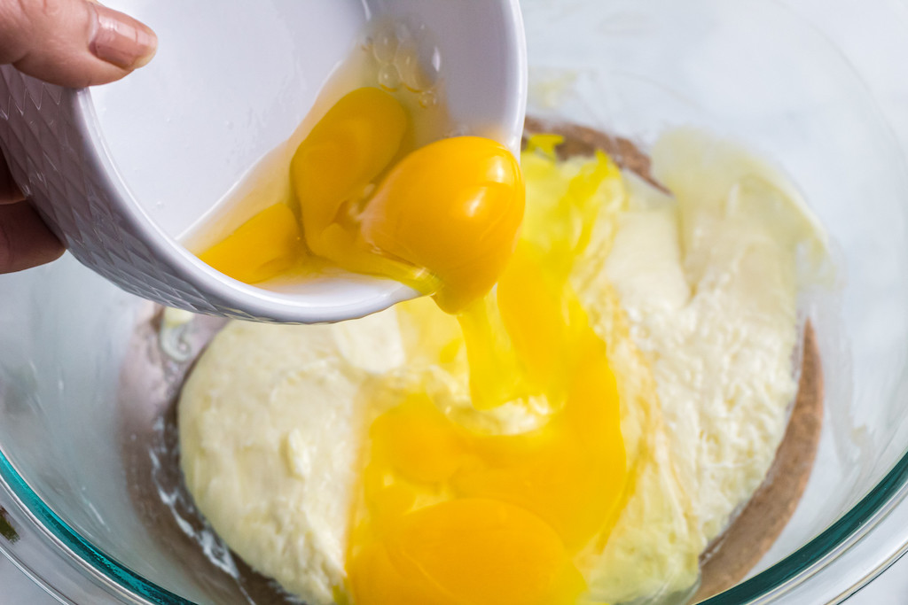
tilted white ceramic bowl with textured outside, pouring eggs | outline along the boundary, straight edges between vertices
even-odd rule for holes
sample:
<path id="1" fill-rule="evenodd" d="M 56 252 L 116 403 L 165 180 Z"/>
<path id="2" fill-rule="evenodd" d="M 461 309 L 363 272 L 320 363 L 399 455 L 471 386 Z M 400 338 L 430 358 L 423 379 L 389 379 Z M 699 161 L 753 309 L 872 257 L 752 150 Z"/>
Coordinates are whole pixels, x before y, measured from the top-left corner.
<path id="1" fill-rule="evenodd" d="M 312 323 L 360 317 L 415 295 L 355 275 L 314 279 L 291 294 L 252 287 L 179 241 L 291 135 L 370 15 L 429 25 L 452 122 L 518 148 L 527 65 L 517 0 L 109 4 L 156 30 L 154 61 L 91 90 L 0 67 L 0 147 L 73 255 L 144 298 L 212 315 Z"/>

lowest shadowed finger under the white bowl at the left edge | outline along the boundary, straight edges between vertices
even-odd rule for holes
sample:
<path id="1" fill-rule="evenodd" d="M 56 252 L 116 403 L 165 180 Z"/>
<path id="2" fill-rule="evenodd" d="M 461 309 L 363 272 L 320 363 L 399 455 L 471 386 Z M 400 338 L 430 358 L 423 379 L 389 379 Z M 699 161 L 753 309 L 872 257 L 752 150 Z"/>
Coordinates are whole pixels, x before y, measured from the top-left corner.
<path id="1" fill-rule="evenodd" d="M 59 259 L 63 244 L 28 202 L 0 206 L 0 273 Z"/>

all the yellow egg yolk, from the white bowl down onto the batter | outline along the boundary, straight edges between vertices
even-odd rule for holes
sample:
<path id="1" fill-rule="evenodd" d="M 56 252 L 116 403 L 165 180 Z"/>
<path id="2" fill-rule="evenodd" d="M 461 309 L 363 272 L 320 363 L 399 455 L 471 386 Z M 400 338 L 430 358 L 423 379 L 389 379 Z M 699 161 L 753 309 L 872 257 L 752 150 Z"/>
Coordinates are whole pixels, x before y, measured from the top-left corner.
<path id="1" fill-rule="evenodd" d="M 475 136 L 415 145 L 413 123 L 379 87 L 344 94 L 293 153 L 290 199 L 202 259 L 248 283 L 306 256 L 398 279 L 458 314 L 477 414 L 530 401 L 550 413 L 526 433 L 479 434 L 416 381 L 378 415 L 348 544 L 355 603 L 574 603 L 574 558 L 607 535 L 628 483 L 607 346 L 569 284 L 587 232 L 547 228 L 517 248 L 517 159 Z M 584 201 L 617 175 L 605 156 L 594 166 L 553 224 L 590 220 Z"/>

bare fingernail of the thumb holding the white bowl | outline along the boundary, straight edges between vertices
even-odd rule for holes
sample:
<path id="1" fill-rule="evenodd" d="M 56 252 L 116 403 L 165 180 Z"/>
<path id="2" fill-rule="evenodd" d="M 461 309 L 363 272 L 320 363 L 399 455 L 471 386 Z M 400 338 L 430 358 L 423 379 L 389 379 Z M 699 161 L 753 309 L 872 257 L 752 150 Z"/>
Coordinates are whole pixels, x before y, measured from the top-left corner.
<path id="1" fill-rule="evenodd" d="M 152 60 L 158 36 L 150 27 L 106 6 L 88 6 L 94 13 L 88 44 L 94 56 L 123 69 L 136 69 Z"/>

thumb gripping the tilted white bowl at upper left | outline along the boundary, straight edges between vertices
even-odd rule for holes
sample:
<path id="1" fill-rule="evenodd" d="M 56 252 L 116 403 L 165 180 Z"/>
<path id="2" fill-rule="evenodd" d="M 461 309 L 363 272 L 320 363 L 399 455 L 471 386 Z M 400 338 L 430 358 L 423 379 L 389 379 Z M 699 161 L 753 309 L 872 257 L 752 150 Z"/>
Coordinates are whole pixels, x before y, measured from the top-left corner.
<path id="1" fill-rule="evenodd" d="M 0 0 L 0 63 L 62 86 L 113 82 L 151 61 L 157 36 L 86 0 Z"/>

